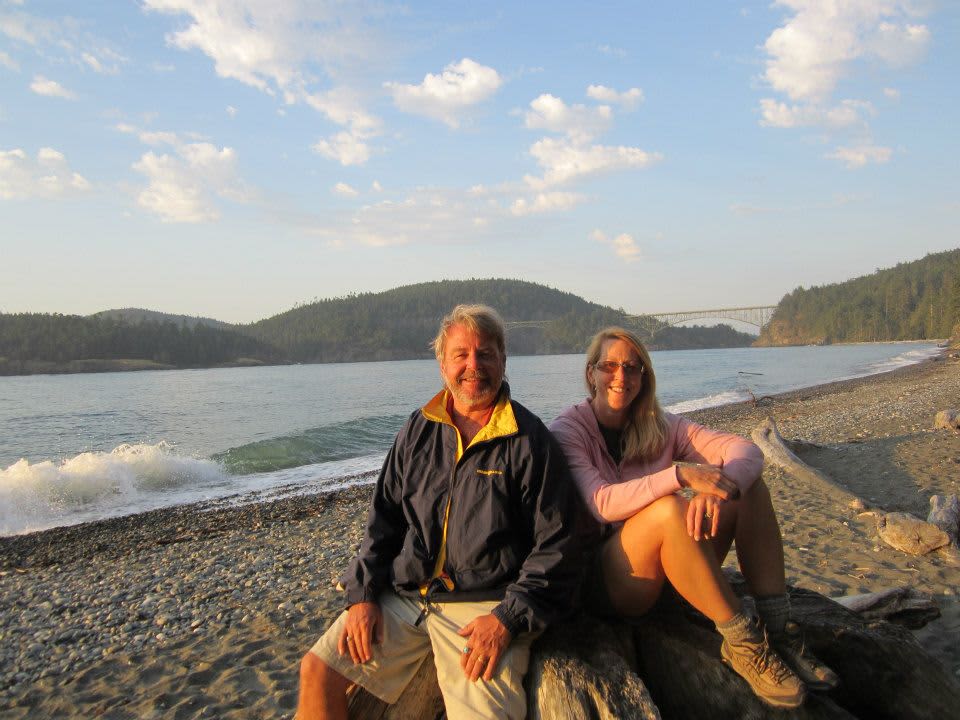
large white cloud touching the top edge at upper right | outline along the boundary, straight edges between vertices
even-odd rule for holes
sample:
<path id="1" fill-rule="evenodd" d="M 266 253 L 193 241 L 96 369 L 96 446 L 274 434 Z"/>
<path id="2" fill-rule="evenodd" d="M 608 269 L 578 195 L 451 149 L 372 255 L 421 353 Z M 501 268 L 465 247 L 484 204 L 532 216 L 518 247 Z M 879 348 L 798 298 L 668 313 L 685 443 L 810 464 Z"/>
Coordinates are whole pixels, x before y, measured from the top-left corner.
<path id="1" fill-rule="evenodd" d="M 907 22 L 910 0 L 777 0 L 793 11 L 764 47 L 764 78 L 791 100 L 822 102 L 855 61 L 916 61 L 929 43 L 923 25 Z"/>

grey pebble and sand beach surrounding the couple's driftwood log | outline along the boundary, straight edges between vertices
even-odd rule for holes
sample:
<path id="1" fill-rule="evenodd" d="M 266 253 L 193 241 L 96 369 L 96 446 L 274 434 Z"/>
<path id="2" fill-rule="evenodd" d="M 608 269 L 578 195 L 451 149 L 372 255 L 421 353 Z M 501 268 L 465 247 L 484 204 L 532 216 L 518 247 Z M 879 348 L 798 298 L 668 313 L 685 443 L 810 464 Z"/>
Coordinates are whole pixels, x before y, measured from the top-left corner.
<path id="1" fill-rule="evenodd" d="M 521 402 L 523 398 L 518 398 Z M 802 459 L 868 507 L 926 518 L 960 493 L 960 363 L 690 413 L 749 436 L 772 416 Z M 787 581 L 830 597 L 912 587 L 942 616 L 916 637 L 960 675 L 960 564 L 885 545 L 841 493 L 768 465 Z M 342 608 L 336 578 L 371 486 L 242 507 L 188 505 L 0 538 L 0 716 L 292 717 L 299 659 Z M 731 554 L 732 559 L 732 554 Z"/>

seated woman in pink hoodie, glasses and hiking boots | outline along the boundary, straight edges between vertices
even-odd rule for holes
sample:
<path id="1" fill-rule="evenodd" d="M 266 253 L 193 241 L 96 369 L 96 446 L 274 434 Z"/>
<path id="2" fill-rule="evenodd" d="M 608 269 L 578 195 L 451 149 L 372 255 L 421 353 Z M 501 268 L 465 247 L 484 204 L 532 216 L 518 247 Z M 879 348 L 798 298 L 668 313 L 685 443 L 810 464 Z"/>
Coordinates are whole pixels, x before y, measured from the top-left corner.
<path id="1" fill-rule="evenodd" d="M 628 330 L 594 337 L 585 379 L 590 397 L 550 429 L 587 506 L 609 524 L 597 560 L 601 607 L 642 615 L 669 580 L 716 624 L 724 661 L 767 703 L 797 707 L 805 687 L 834 687 L 834 672 L 803 651 L 789 622 L 783 543 L 759 449 L 665 413 L 650 355 Z M 720 570 L 733 541 L 762 626 Z"/>

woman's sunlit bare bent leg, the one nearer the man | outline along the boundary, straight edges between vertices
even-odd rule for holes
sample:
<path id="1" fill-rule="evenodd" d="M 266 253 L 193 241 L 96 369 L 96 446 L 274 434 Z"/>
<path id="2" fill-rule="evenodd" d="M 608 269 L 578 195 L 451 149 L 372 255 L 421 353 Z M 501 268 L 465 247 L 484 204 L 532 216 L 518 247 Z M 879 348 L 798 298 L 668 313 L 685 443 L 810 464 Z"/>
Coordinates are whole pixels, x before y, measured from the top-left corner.
<path id="1" fill-rule="evenodd" d="M 639 616 L 669 579 L 686 600 L 715 623 L 725 623 L 740 602 L 720 571 L 708 542 L 687 534 L 687 501 L 668 495 L 627 520 L 603 547 L 603 577 L 617 612 Z"/>

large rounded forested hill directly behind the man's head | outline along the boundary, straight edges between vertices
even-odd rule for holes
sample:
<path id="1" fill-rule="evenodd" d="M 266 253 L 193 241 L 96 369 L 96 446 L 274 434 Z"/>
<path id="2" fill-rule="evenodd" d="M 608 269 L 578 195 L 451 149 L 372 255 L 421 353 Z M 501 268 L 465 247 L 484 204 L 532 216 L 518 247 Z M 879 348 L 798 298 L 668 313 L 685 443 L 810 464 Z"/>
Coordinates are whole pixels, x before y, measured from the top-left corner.
<path id="1" fill-rule="evenodd" d="M 321 300 L 242 328 L 296 362 L 432 357 L 429 342 L 458 303 L 484 303 L 508 322 L 552 320 L 510 330 L 515 355 L 579 352 L 598 328 L 622 324 L 622 310 L 520 280 L 442 280 L 381 293 Z"/>

